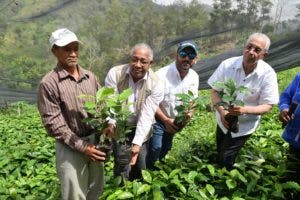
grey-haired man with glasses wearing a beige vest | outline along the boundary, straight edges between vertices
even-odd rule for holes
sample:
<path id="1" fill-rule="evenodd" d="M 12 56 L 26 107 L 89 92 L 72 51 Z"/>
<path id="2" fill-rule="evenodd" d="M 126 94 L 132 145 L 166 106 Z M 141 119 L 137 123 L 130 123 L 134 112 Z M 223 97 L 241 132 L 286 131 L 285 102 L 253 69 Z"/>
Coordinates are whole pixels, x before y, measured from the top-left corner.
<path id="1" fill-rule="evenodd" d="M 127 125 L 136 127 L 128 136 L 132 141 L 130 163 L 121 159 L 124 156 L 124 152 L 119 151 L 123 148 L 122 144 L 113 142 L 114 175 L 121 175 L 129 180 L 141 178 L 141 171 L 146 168 L 150 130 L 154 123 L 155 111 L 163 99 L 163 89 L 159 79 L 150 68 L 152 60 L 152 49 L 145 43 L 136 44 L 130 51 L 129 63 L 111 68 L 105 78 L 105 86 L 113 87 L 117 93 L 127 88 L 133 91 L 128 98 L 132 115 Z M 113 120 L 110 120 L 104 134 L 112 135 L 115 128 Z"/>

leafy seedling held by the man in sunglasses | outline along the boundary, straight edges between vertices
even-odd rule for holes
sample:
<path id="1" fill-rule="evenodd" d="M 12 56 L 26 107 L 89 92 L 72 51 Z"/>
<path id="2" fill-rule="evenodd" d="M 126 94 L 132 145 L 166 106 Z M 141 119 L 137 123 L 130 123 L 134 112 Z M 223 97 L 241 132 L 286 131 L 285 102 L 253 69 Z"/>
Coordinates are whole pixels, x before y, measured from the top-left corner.
<path id="1" fill-rule="evenodd" d="M 177 115 L 174 121 L 179 130 L 190 120 L 188 117 L 190 113 L 194 112 L 197 108 L 205 107 L 202 100 L 198 97 L 194 97 L 193 92 L 190 90 L 187 93 L 176 94 L 176 101 L 177 105 L 175 106 L 175 110 L 177 111 Z"/>

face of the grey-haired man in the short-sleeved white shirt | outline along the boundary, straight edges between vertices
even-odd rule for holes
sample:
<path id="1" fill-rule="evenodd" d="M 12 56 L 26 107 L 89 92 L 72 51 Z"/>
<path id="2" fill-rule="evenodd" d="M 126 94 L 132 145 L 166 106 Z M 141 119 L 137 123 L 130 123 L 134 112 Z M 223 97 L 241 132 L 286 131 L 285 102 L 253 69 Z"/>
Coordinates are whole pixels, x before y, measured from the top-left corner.
<path id="1" fill-rule="evenodd" d="M 254 37 L 243 50 L 244 64 L 256 64 L 258 60 L 264 59 L 268 54 L 265 49 L 266 41 L 261 37 Z"/>

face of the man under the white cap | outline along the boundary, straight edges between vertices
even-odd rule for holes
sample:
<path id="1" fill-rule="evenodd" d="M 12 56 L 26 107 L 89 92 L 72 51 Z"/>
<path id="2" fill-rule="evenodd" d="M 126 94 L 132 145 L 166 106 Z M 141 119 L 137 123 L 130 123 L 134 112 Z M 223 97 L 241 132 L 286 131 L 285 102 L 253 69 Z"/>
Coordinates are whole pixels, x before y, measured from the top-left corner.
<path id="1" fill-rule="evenodd" d="M 59 64 L 63 67 L 76 67 L 79 55 L 78 42 L 72 42 L 64 47 L 53 47 L 52 53 L 57 58 Z"/>

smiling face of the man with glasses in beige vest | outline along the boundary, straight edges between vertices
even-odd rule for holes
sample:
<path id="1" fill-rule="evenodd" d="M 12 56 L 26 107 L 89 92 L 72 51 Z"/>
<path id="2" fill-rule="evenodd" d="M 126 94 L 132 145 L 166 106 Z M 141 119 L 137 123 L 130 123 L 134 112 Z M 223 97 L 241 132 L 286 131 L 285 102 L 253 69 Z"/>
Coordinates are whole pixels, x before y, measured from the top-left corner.
<path id="1" fill-rule="evenodd" d="M 142 79 L 148 72 L 152 60 L 150 59 L 150 52 L 145 48 L 137 48 L 131 56 L 129 66 L 130 74 L 134 82 Z"/>

